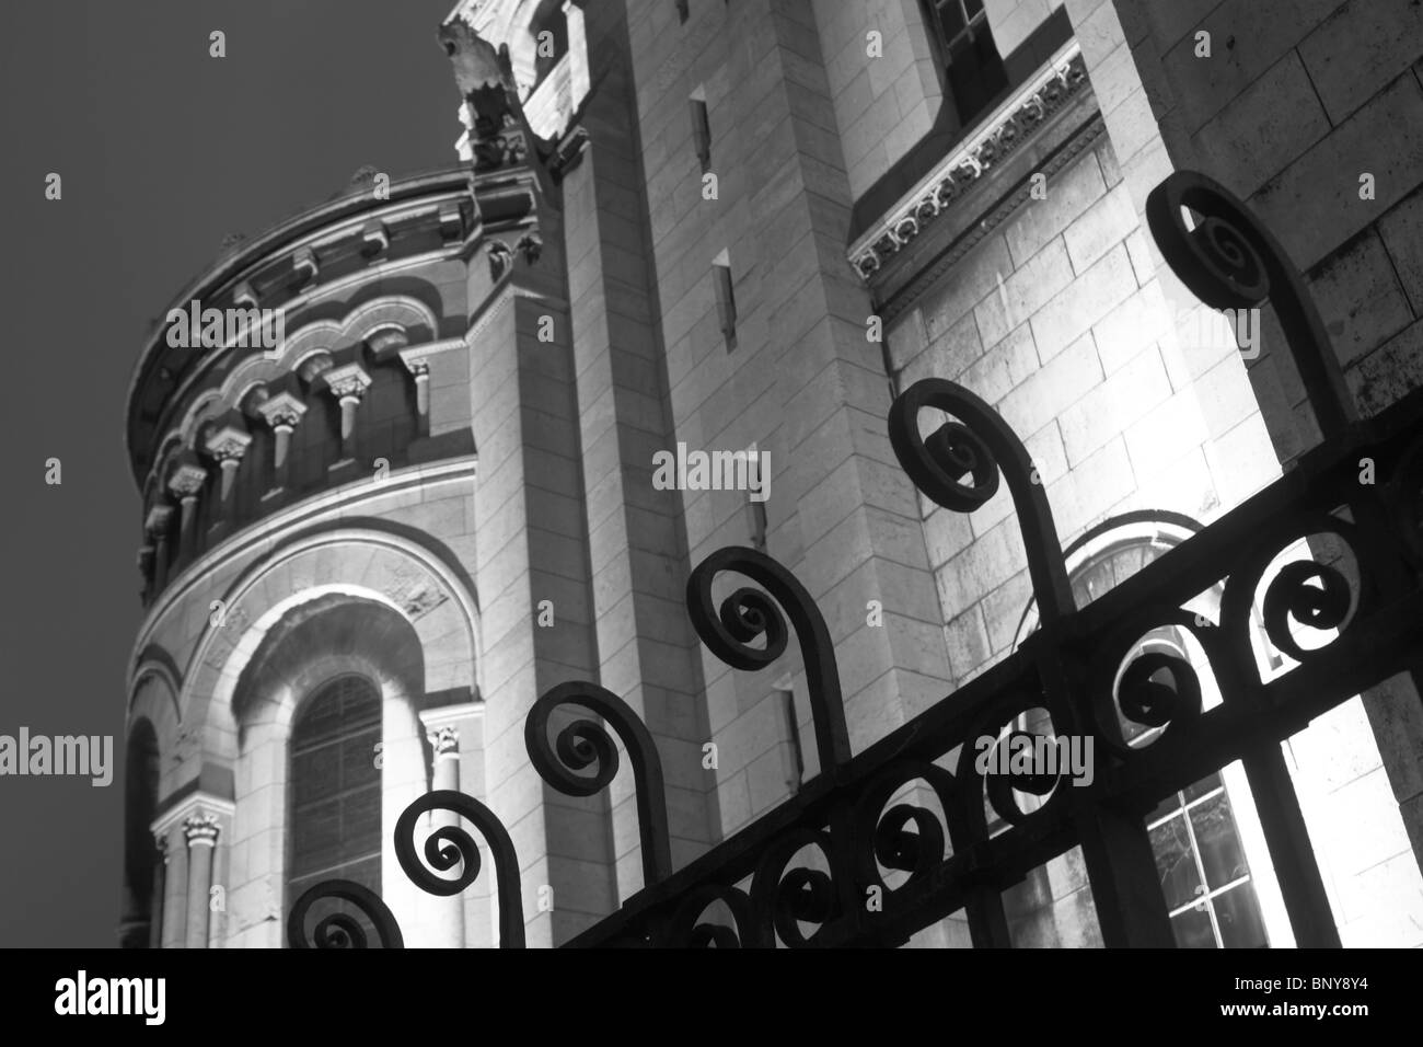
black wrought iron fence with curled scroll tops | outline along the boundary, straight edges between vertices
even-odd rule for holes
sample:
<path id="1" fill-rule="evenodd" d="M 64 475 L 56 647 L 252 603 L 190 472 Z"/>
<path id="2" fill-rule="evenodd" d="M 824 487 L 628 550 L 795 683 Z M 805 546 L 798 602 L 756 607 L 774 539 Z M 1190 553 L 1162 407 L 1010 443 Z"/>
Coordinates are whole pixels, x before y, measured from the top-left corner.
<path id="1" fill-rule="evenodd" d="M 1192 224 L 1183 208 L 1195 214 Z M 1268 299 L 1275 308 L 1323 442 L 1276 483 L 1079 608 L 1022 440 L 968 389 L 939 379 L 915 383 L 889 412 L 895 454 L 921 491 L 956 513 L 972 513 L 1007 484 L 1037 631 L 1007 660 L 854 754 L 834 645 L 810 594 L 763 553 L 713 553 L 687 581 L 697 635 L 721 661 L 754 671 L 774 662 L 794 632 L 820 773 L 673 870 L 662 765 L 636 714 L 591 682 L 542 695 L 525 724 L 539 775 L 568 795 L 605 789 L 619 768 L 612 731 L 632 762 L 642 838 L 646 886 L 568 946 L 895 946 L 958 912 L 975 946 L 1009 946 L 1002 892 L 1072 848 L 1081 848 L 1104 944 L 1173 946 L 1144 816 L 1235 761 L 1244 764 L 1296 943 L 1339 944 L 1281 742 L 1395 674 L 1412 674 L 1414 684 L 1423 675 L 1423 390 L 1369 422 L 1352 416 L 1301 275 L 1218 184 L 1173 174 L 1153 191 L 1147 219 L 1165 261 L 1202 302 L 1241 309 Z M 956 420 L 922 439 L 925 409 Z M 1373 460 L 1372 484 L 1360 483 L 1363 459 Z M 1301 540 L 1311 541 L 1312 558 L 1271 573 Z M 736 588 L 717 605 L 713 583 L 723 574 L 744 575 L 756 587 Z M 1218 620 L 1185 610 L 1217 585 L 1224 587 Z M 1268 679 L 1252 650 L 1257 605 L 1268 642 L 1296 662 Z M 1138 650 L 1158 627 L 1195 638 L 1218 705 L 1202 708 L 1201 678 L 1190 661 Z M 1323 642 L 1302 645 L 1296 634 L 1309 630 Z M 602 722 L 582 717 L 551 739 L 551 718 L 569 708 Z M 1046 711 L 1056 736 L 1096 742 L 1101 758 L 1089 785 L 1064 788 L 1062 768 L 1056 775 L 978 769 L 972 741 L 1009 736 L 1029 711 Z M 1148 745 L 1133 745 L 1131 725 L 1164 731 Z M 906 786 L 918 792 L 905 795 Z M 1019 799 L 1027 795 L 1037 801 Z M 421 862 L 416 828 L 431 811 L 454 812 L 482 835 L 498 873 L 499 942 L 524 946 L 514 846 L 472 796 L 441 791 L 411 803 L 396 828 L 401 868 L 434 895 L 460 893 L 477 879 L 480 850 L 460 825 L 434 829 Z M 989 812 L 1002 823 L 990 825 Z M 455 869 L 453 879 L 437 875 Z M 867 903 L 871 896 L 877 905 Z M 401 944 L 393 915 L 374 893 L 336 880 L 296 902 L 287 922 L 292 946 L 367 944 L 350 913 L 327 916 L 307 933 L 309 912 L 323 897 L 361 910 L 383 946 Z"/>

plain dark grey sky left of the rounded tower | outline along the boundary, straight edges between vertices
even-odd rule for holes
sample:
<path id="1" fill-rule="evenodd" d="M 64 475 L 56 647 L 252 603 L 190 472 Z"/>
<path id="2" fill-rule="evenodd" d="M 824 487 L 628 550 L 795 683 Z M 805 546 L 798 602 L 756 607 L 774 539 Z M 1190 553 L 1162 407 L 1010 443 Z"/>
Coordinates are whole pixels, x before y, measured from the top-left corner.
<path id="1" fill-rule="evenodd" d="M 394 178 L 455 162 L 460 98 L 435 43 L 451 7 L 0 3 L 0 735 L 112 735 L 120 764 L 108 788 L 0 776 L 0 946 L 117 942 L 141 610 L 124 396 L 148 323 L 226 234 L 332 197 L 363 164 Z"/>

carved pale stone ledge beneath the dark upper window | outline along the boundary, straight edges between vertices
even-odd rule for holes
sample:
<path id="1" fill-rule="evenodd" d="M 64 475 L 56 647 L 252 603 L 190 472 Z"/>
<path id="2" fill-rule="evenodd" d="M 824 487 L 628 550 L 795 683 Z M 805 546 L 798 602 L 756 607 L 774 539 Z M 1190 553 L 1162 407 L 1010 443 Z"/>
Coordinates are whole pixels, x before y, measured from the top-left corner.
<path id="1" fill-rule="evenodd" d="M 868 283 L 924 226 L 948 211 L 953 201 L 1087 85 L 1087 67 L 1073 40 L 1022 91 L 1000 105 L 980 131 L 951 152 L 878 225 L 850 246 L 850 264 L 859 278 Z"/>

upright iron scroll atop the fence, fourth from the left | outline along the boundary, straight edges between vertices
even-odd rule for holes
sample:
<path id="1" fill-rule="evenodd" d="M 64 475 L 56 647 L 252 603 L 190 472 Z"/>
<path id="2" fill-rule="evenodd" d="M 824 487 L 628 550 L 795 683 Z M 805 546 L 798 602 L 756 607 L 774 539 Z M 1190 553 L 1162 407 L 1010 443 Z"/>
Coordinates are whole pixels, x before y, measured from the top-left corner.
<path id="1" fill-rule="evenodd" d="M 712 584 L 721 571 L 744 574 L 766 593 L 737 588 L 719 611 Z M 787 625 L 780 608 L 785 610 L 800 641 L 821 772 L 837 775 L 851 755 L 840 670 L 830 630 L 805 587 L 776 560 L 744 546 L 717 550 L 687 578 L 687 611 L 693 628 L 707 650 L 739 670 L 763 668 L 785 651 Z M 751 647 L 757 638 L 763 645 Z"/>

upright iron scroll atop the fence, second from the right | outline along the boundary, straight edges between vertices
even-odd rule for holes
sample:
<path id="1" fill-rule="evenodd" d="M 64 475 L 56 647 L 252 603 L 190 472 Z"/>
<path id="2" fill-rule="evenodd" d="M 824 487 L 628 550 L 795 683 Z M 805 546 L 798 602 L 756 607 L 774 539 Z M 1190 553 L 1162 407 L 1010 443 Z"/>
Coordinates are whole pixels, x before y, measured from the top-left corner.
<path id="1" fill-rule="evenodd" d="M 959 420 L 946 422 L 921 439 L 919 412 L 926 407 Z M 988 403 L 953 382 L 938 377 L 915 382 L 889 407 L 889 444 L 914 486 L 955 513 L 972 513 L 985 504 L 998 493 L 1002 477 L 1023 530 L 1042 625 L 1050 628 L 1073 610 L 1062 543 L 1042 477 L 1023 442 Z M 965 477 L 972 477 L 972 483 L 963 483 Z"/>

